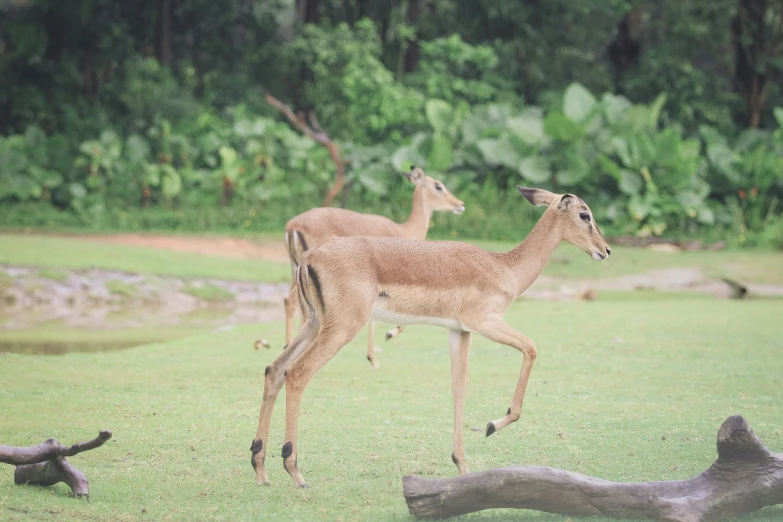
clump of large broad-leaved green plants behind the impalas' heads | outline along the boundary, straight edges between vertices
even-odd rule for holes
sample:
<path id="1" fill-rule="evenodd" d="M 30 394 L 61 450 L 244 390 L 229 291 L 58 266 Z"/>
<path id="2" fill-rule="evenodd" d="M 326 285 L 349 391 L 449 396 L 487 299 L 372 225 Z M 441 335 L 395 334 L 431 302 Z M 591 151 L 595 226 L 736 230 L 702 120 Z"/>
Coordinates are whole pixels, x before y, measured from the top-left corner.
<path id="1" fill-rule="evenodd" d="M 661 95 L 650 105 L 633 105 L 612 94 L 599 101 L 579 84 L 549 111 L 498 105 L 458 110 L 429 100 L 431 132 L 400 147 L 393 163 L 602 194 L 595 198 L 596 214 L 641 236 L 713 225 L 701 143 L 676 126 L 659 128 L 665 102 Z M 774 150 L 763 152 L 778 158 Z"/>

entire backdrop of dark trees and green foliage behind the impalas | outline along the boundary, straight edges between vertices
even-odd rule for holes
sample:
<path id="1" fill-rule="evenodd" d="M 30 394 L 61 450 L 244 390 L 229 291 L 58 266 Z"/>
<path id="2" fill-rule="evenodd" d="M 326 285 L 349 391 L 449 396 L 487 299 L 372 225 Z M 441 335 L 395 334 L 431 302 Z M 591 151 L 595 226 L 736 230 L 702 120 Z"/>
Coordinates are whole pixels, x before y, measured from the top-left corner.
<path id="1" fill-rule="evenodd" d="M 0 224 L 279 230 L 337 203 L 514 239 L 509 191 L 574 191 L 611 233 L 783 245 L 783 4 L 770 0 L 0 3 Z"/>

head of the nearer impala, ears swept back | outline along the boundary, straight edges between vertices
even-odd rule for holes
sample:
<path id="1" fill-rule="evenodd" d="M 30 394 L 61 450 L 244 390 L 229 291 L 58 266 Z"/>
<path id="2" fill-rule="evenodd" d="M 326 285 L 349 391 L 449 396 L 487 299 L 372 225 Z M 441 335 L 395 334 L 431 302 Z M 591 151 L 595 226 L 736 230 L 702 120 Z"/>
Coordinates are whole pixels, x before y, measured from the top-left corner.
<path id="1" fill-rule="evenodd" d="M 612 253 L 598 224 L 593 220 L 593 213 L 580 198 L 573 194 L 553 194 L 546 190 L 519 186 L 517 188 L 532 204 L 549 207 L 546 212 L 554 215 L 563 240 L 581 248 L 599 261 Z"/>

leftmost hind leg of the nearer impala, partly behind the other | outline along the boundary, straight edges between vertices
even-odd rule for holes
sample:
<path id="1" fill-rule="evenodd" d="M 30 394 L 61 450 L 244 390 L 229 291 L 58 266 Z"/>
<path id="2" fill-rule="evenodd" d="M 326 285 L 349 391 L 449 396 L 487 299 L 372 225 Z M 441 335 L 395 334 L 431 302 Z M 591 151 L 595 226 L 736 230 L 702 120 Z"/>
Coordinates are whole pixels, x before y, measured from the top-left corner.
<path id="1" fill-rule="evenodd" d="M 250 463 L 256 470 L 256 483 L 259 485 L 269 484 L 269 477 L 264 468 L 264 459 L 269 442 L 272 412 L 275 409 L 280 388 L 285 382 L 285 371 L 312 344 L 317 333 L 318 323 L 312 319 L 305 321 L 294 342 L 264 370 L 264 397 L 261 400 L 261 412 L 258 415 L 258 430 L 253 444 L 250 446 L 252 452 Z"/>

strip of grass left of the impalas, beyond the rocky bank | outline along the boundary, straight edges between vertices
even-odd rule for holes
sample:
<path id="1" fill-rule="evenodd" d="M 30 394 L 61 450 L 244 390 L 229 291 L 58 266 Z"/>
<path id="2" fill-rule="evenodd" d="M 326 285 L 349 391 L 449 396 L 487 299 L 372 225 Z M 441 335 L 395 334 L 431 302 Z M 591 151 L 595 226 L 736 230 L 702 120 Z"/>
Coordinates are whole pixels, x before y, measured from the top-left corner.
<path id="1" fill-rule="evenodd" d="M 232 259 L 86 239 L 0 234 L 0 264 L 57 268 L 104 268 L 175 277 L 215 277 L 281 282 L 291 278 L 288 263 Z"/>

